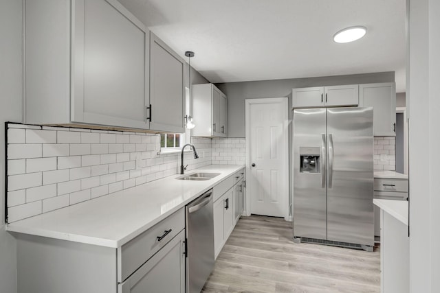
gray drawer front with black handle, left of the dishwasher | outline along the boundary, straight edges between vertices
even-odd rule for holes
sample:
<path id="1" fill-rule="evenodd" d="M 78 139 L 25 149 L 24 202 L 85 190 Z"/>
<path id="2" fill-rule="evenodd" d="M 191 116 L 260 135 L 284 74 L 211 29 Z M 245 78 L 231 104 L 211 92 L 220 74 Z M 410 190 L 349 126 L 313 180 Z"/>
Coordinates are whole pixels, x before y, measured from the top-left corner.
<path id="1" fill-rule="evenodd" d="M 185 228 L 185 211 L 179 209 L 168 218 L 155 224 L 144 233 L 138 235 L 120 249 L 120 266 L 118 266 L 118 282 L 129 277 L 142 263 L 152 257 L 160 248 L 165 246 Z M 171 231 L 170 231 L 171 229 Z M 166 231 L 170 231 L 159 240 Z"/>

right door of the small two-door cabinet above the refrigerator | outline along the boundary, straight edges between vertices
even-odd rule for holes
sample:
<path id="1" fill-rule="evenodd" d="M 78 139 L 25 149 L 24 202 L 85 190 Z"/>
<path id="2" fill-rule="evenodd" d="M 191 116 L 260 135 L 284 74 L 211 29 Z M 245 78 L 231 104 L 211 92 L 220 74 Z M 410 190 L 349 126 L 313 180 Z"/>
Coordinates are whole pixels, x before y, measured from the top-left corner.
<path id="1" fill-rule="evenodd" d="M 359 85 L 325 86 L 325 106 L 358 106 Z"/>

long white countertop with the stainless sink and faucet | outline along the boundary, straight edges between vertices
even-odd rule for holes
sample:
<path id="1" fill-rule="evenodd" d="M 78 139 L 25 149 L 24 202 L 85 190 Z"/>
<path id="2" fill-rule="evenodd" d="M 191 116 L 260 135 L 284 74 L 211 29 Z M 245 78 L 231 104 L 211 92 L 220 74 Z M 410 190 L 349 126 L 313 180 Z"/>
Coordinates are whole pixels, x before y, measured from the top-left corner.
<path id="1" fill-rule="evenodd" d="M 210 180 L 177 180 L 180 174 L 155 180 L 63 209 L 12 222 L 6 230 L 118 248 L 243 168 L 209 165 L 191 170 L 216 172 Z"/>

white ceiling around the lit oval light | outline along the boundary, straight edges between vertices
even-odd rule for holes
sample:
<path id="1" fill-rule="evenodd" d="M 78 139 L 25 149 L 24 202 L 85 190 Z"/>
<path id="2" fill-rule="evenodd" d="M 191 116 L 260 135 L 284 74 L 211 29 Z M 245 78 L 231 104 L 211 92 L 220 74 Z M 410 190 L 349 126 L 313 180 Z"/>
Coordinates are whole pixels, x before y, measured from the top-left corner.
<path id="1" fill-rule="evenodd" d="M 119 1 L 210 82 L 395 71 L 405 91 L 406 0 Z M 333 42 L 353 25 L 366 36 Z"/>

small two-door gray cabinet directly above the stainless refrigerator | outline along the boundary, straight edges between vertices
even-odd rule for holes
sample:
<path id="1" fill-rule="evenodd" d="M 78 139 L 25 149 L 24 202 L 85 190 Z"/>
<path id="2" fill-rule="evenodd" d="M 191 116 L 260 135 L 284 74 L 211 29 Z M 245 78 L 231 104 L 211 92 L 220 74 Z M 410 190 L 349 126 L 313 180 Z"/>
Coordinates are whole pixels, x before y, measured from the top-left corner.
<path id="1" fill-rule="evenodd" d="M 318 86 L 292 89 L 292 108 L 358 106 L 359 86 Z"/>

